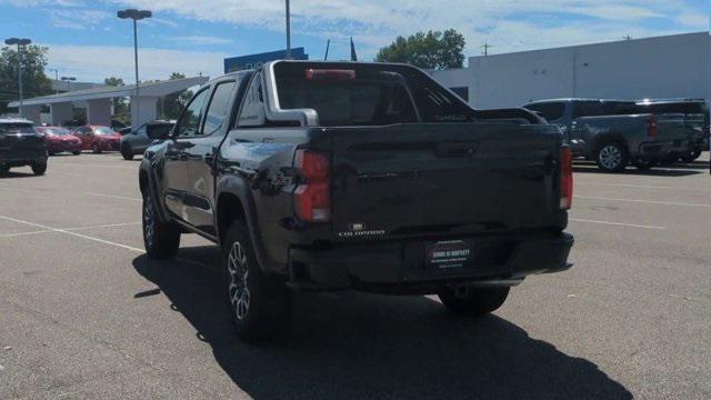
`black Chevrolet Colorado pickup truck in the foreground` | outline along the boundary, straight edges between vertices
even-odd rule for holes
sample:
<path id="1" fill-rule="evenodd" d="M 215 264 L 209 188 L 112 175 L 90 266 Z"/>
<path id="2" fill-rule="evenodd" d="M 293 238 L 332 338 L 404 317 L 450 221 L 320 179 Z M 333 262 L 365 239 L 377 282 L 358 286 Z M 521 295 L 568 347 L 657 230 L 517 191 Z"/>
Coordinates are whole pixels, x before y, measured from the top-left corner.
<path id="1" fill-rule="evenodd" d="M 478 111 L 402 64 L 276 61 L 199 90 L 140 167 L 153 258 L 182 233 L 223 249 L 244 340 L 292 290 L 439 294 L 498 309 L 570 267 L 571 152 L 522 109 Z"/>

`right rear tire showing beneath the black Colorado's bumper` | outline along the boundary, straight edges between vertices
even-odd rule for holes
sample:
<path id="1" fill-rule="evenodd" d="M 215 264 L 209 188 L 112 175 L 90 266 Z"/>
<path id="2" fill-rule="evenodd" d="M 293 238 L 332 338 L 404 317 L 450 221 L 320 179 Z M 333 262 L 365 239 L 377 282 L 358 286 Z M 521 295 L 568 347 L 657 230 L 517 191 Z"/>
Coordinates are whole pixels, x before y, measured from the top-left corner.
<path id="1" fill-rule="evenodd" d="M 439 293 L 442 304 L 462 317 L 483 317 L 498 310 L 507 301 L 511 288 L 473 288 L 470 287 L 463 297 L 457 296 L 453 289 L 445 287 Z"/>

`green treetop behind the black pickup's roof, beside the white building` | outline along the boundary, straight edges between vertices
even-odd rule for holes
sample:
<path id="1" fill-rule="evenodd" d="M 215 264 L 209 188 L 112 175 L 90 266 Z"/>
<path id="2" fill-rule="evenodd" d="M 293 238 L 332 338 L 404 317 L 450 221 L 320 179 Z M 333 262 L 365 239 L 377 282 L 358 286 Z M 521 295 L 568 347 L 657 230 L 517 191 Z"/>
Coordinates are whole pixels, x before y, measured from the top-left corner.
<path id="1" fill-rule="evenodd" d="M 464 37 L 454 29 L 429 30 L 408 38 L 399 36 L 375 56 L 378 62 L 403 62 L 425 69 L 461 68 L 464 64 Z"/>

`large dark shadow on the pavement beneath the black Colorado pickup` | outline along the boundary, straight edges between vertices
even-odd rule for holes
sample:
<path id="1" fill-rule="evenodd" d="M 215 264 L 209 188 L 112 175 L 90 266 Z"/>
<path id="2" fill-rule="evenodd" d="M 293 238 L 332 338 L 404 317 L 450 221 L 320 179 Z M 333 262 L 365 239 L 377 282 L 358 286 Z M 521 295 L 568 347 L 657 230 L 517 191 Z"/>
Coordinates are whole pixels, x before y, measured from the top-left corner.
<path id="1" fill-rule="evenodd" d="M 181 249 L 179 257 L 219 259 L 212 247 Z M 594 363 L 504 319 L 458 319 L 425 297 L 298 293 L 290 338 L 244 344 L 233 333 L 217 270 L 146 256 L 133 267 L 253 398 L 631 398 Z"/>

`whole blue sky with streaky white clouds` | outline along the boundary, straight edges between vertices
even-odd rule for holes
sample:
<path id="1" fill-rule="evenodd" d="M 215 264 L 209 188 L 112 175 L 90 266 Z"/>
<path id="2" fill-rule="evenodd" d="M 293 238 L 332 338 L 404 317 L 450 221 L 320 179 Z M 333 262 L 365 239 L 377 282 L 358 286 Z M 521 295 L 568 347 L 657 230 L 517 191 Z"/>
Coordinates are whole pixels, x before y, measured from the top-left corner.
<path id="1" fill-rule="evenodd" d="M 286 48 L 284 0 L 0 0 L 0 38 L 27 37 L 49 48 L 60 76 L 133 80 L 131 23 L 118 10 L 139 8 L 141 79 L 172 71 L 216 77 L 226 57 Z M 311 59 L 361 60 L 397 36 L 454 28 L 464 54 L 533 50 L 708 31 L 709 0 L 291 0 L 292 47 Z M 53 74 L 53 72 L 50 72 Z"/>

